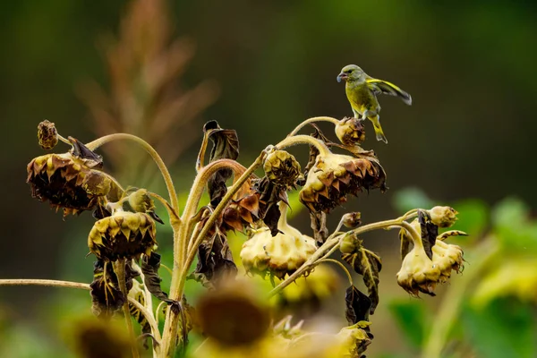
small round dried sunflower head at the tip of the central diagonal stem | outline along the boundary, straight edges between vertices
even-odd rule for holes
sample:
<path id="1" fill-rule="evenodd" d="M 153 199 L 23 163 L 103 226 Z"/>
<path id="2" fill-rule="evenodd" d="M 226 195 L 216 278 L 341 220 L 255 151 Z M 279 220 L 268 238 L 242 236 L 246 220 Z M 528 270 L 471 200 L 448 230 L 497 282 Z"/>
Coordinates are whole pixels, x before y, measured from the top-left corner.
<path id="1" fill-rule="evenodd" d="M 274 150 L 268 154 L 263 168 L 270 182 L 283 185 L 286 188 L 294 187 L 294 183 L 301 173 L 300 164 L 286 150 Z"/>

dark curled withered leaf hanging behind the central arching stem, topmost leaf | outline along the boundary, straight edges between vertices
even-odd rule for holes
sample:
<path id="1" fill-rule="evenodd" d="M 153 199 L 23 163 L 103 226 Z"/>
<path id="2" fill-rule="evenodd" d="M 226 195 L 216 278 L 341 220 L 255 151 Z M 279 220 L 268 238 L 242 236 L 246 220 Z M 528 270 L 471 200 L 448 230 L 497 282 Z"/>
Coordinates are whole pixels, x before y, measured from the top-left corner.
<path id="1" fill-rule="evenodd" d="M 209 162 L 217 159 L 233 159 L 239 157 L 239 138 L 237 132 L 232 129 L 222 129 L 217 121 L 209 121 L 203 126 L 203 132 L 213 142 L 210 150 Z M 233 175 L 231 169 L 220 169 L 209 178 L 210 204 L 214 207 L 226 195 L 226 180 Z"/>

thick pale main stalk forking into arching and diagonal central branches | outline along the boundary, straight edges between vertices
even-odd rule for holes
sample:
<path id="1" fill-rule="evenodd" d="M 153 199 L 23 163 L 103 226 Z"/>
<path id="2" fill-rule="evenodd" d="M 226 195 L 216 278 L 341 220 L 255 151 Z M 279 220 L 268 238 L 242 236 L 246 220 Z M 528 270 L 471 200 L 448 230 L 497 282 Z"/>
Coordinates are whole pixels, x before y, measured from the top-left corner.
<path id="1" fill-rule="evenodd" d="M 217 220 L 217 217 L 219 217 L 220 213 L 226 207 L 229 200 L 233 198 L 234 193 L 237 192 L 241 188 L 241 186 L 243 186 L 243 183 L 246 182 L 246 180 L 250 178 L 253 172 L 263 163 L 263 160 L 266 158 L 266 155 L 267 155 L 266 151 L 263 151 L 260 157 L 257 158 L 255 162 L 248 169 L 246 169 L 246 171 L 244 171 L 243 175 L 241 175 L 240 178 L 235 181 L 233 186 L 226 192 L 226 195 L 217 205 L 217 208 L 213 211 L 213 213 L 209 217 L 207 224 L 203 227 L 200 234 L 196 238 L 192 239 L 192 242 L 193 242 L 192 249 L 197 248 L 200 241 L 203 240 L 205 235 L 207 235 L 207 233 L 209 232 L 209 228 L 214 225 L 215 221 Z M 183 248 L 188 247 L 188 243 L 186 242 L 187 240 L 186 237 L 190 229 L 190 217 L 193 217 L 195 214 L 195 210 L 198 207 L 200 196 L 204 190 L 205 183 L 207 182 L 207 179 L 209 179 L 210 175 L 214 174 L 217 169 L 221 168 L 218 163 L 226 163 L 226 160 L 229 161 L 229 159 L 220 159 L 220 160 L 210 163 L 208 166 L 204 166 L 202 170 L 200 171 L 200 173 L 198 174 L 198 176 L 196 177 L 194 185 L 192 186 L 191 195 L 189 196 L 189 200 L 187 200 L 187 205 L 184 209 L 183 223 L 181 225 L 181 234 L 178 233 L 178 236 L 175 237 L 174 244 L 177 245 L 178 248 L 181 248 L 181 250 Z M 226 166 L 226 167 L 229 167 L 229 166 Z M 203 180 L 201 179 L 202 177 L 204 178 Z M 177 242 L 177 240 L 180 240 L 180 242 Z M 181 252 L 178 252 L 178 253 L 181 253 Z M 181 300 L 181 297 L 183 295 L 184 282 L 186 281 L 186 275 L 188 273 L 188 269 L 190 268 L 192 264 L 192 260 L 193 260 L 193 257 L 195 256 L 195 253 L 196 253 L 196 250 L 192 250 L 188 252 L 187 257 L 184 258 L 183 256 L 178 255 L 177 258 L 179 260 L 174 260 L 175 261 L 174 262 L 174 275 L 172 277 L 172 288 L 170 289 L 170 298 L 172 300 L 175 300 L 175 301 Z M 179 266 L 176 266 L 176 265 L 179 265 Z M 177 329 L 179 328 L 180 318 L 181 318 L 181 311 L 171 310 L 169 308 L 166 311 L 166 322 L 165 322 L 164 332 L 162 336 L 161 355 L 160 355 L 163 358 L 172 357 L 174 355 L 175 339 L 177 337 Z"/>

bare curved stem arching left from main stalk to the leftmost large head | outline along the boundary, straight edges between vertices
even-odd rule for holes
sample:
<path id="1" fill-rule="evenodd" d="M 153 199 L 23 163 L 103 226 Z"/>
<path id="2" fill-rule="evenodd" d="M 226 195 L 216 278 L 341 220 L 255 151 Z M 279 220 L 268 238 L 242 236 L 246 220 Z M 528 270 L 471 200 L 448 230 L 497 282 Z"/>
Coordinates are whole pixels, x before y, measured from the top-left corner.
<path id="1" fill-rule="evenodd" d="M 178 213 L 179 201 L 177 200 L 177 193 L 175 192 L 174 182 L 172 181 L 172 175 L 170 175 L 170 172 L 167 169 L 166 164 L 164 164 L 164 161 L 158 155 L 157 150 L 151 147 L 151 145 L 147 141 L 144 141 L 140 137 L 137 137 L 135 135 L 128 134 L 128 133 L 115 133 L 115 134 L 105 135 L 103 137 L 98 138 L 95 141 L 90 141 L 90 143 L 86 144 L 86 147 L 88 147 L 90 150 L 95 150 L 95 149 L 98 149 L 98 147 L 102 146 L 103 144 L 106 144 L 107 142 L 121 141 L 121 140 L 134 141 L 135 143 L 139 144 L 143 149 L 145 149 L 149 153 L 149 156 L 153 158 L 153 160 L 158 166 L 158 170 L 160 170 L 160 174 L 162 175 L 166 183 L 166 189 L 170 196 L 170 202 L 171 202 L 172 208 L 175 210 L 176 213 Z"/>

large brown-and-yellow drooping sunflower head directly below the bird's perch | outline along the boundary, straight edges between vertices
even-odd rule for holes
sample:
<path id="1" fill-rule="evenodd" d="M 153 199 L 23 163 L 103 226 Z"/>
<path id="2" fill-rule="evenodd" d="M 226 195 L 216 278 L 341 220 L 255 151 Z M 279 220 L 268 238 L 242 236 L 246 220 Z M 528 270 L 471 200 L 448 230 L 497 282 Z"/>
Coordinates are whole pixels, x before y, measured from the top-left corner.
<path id="1" fill-rule="evenodd" d="M 386 173 L 371 158 L 354 158 L 329 153 L 319 155 L 308 172 L 300 200 L 311 211 L 334 209 L 346 201 L 347 194 L 386 188 Z"/>

